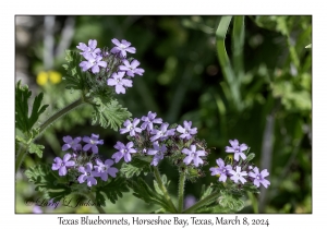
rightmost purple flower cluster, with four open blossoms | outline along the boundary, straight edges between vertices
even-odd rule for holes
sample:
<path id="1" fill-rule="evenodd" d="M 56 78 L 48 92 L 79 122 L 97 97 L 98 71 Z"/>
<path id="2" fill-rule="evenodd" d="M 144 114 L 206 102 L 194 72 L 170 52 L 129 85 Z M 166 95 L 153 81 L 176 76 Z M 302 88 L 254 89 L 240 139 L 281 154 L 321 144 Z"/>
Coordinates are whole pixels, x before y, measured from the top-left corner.
<path id="1" fill-rule="evenodd" d="M 229 143 L 231 146 L 226 146 L 226 152 L 234 154 L 233 162 L 226 165 L 221 158 L 217 159 L 218 168 L 210 168 L 211 176 L 218 174 L 221 182 L 226 182 L 227 178 L 230 178 L 234 183 L 244 184 L 245 182 L 252 182 L 257 188 L 262 184 L 267 189 L 270 182 L 265 178 L 269 176 L 269 172 L 267 169 L 259 172 L 257 167 L 249 165 L 244 154 L 244 150 L 249 149 L 247 145 L 244 143 L 240 145 L 238 140 L 230 140 Z"/>

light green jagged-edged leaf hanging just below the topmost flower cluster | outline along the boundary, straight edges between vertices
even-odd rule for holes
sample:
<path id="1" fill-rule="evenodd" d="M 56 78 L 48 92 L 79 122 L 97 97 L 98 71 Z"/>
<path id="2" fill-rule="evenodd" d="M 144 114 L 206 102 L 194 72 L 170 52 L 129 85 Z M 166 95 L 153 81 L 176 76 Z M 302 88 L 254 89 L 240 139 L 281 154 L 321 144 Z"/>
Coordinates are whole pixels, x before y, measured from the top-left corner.
<path id="1" fill-rule="evenodd" d="M 132 116 L 116 99 L 102 101 L 99 97 L 95 97 L 92 105 L 95 109 L 92 124 L 99 123 L 102 128 L 110 126 L 114 131 L 118 131 L 121 124 Z"/>

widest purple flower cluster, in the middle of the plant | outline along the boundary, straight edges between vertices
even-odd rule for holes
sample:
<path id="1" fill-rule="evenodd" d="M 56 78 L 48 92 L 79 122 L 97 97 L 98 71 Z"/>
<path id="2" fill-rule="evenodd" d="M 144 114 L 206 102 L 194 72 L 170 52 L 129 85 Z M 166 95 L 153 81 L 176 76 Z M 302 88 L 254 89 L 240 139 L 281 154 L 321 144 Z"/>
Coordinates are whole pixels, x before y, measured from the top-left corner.
<path id="1" fill-rule="evenodd" d="M 142 121 L 142 123 L 141 123 Z M 141 123 L 141 125 L 140 125 Z M 169 125 L 161 118 L 157 118 L 156 112 L 149 111 L 141 119 L 126 120 L 121 134 L 129 133 L 129 142 L 124 145 L 118 142 L 114 148 L 118 149 L 112 158 L 118 162 L 124 158 L 130 162 L 131 154 L 140 156 L 150 156 L 152 166 L 157 166 L 166 156 L 175 165 L 199 167 L 206 157 L 205 143 L 195 138 L 196 128 L 192 128 L 192 121 L 184 121 L 183 125 Z"/>

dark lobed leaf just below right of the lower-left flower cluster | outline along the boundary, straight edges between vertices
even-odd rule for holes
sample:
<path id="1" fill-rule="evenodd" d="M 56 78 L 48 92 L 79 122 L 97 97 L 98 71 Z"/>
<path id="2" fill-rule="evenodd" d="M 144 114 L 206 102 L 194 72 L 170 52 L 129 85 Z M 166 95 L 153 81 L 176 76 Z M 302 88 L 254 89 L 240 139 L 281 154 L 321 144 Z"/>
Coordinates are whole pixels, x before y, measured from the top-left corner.
<path id="1" fill-rule="evenodd" d="M 114 204 L 118 197 L 122 197 L 123 192 L 129 192 L 128 183 L 122 177 L 112 179 L 109 183 L 96 188 L 96 201 L 106 206 L 105 195 Z"/>

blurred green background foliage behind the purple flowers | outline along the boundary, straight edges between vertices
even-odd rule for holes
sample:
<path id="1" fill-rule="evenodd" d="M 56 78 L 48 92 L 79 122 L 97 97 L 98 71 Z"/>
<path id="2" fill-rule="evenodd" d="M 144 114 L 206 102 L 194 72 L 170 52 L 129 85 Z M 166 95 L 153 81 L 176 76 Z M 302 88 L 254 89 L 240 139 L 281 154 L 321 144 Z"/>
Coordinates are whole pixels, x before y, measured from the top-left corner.
<path id="1" fill-rule="evenodd" d="M 218 40 L 216 31 L 218 29 Z M 111 39 L 126 39 L 145 70 L 133 87 L 118 95 L 120 103 L 141 118 L 148 111 L 170 123 L 191 120 L 198 137 L 211 148 L 206 177 L 186 183 L 185 194 L 199 197 L 203 183 L 216 182 L 208 169 L 225 158 L 229 140 L 238 138 L 256 153 L 255 164 L 268 169 L 271 185 L 249 197 L 241 213 L 312 213 L 312 16 L 27 16 L 15 17 L 15 82 L 45 92 L 49 104 L 43 119 L 78 97 L 64 88 L 64 50 L 97 39 L 98 47 L 113 47 Z M 221 36 L 220 36 L 221 35 Z M 218 41 L 218 43 L 217 43 Z M 216 45 L 217 43 L 217 45 Z M 226 50 L 225 50 L 226 48 Z M 229 58 L 229 59 L 228 59 Z M 62 156 L 62 137 L 100 134 L 100 154 L 111 157 L 125 135 L 90 125 L 90 107 L 81 107 L 57 121 L 37 140 L 44 157 L 28 155 L 16 174 L 16 213 L 33 213 L 26 200 L 40 194 L 27 182 L 24 169 L 51 164 Z M 120 166 L 118 166 L 120 167 Z M 177 194 L 178 171 L 164 160 L 161 173 Z M 147 178 L 150 181 L 150 177 Z M 149 213 L 126 193 L 108 213 Z M 41 208 L 44 213 L 97 213 L 93 207 Z"/>

